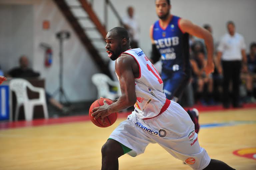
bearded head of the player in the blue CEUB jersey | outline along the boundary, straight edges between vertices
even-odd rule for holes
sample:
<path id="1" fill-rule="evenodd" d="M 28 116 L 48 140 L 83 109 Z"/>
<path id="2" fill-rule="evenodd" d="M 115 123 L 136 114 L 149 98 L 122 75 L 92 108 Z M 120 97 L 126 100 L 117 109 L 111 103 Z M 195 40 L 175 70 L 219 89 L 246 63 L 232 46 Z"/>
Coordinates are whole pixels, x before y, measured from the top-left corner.
<path id="1" fill-rule="evenodd" d="M 156 14 L 159 19 L 166 20 L 170 15 L 170 0 L 156 0 Z"/>

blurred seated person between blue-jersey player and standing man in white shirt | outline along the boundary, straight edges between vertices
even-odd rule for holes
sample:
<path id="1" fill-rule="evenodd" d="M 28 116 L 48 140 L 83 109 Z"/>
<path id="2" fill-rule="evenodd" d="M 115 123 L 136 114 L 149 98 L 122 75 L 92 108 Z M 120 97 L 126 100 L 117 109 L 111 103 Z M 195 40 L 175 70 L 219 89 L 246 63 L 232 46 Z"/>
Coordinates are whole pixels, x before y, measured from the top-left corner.
<path id="1" fill-rule="evenodd" d="M 211 75 L 206 76 L 204 73 L 204 66 L 206 65 L 204 53 L 196 53 L 190 63 L 192 66 L 195 100 L 200 100 L 202 104 L 214 104 L 212 98 L 213 79 Z"/>

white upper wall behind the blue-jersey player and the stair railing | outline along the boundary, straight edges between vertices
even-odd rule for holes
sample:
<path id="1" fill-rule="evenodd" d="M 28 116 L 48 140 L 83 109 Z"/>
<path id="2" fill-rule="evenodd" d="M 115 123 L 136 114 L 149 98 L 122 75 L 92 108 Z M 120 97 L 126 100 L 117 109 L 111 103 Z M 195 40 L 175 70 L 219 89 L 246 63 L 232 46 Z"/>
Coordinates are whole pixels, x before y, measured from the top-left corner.
<path id="1" fill-rule="evenodd" d="M 155 12 L 155 0 L 111 0 L 121 16 L 126 15 L 126 7 L 135 8 L 135 16 L 141 26 L 140 47 L 149 55 L 151 41 L 149 27 L 158 19 Z M 103 0 L 94 0 L 94 8 L 101 20 Z M 202 26 L 209 23 L 213 28 L 213 37 L 219 40 L 226 33 L 226 22 L 233 20 L 237 32 L 245 38 L 247 49 L 252 41 L 256 41 L 256 0 L 171 0 L 171 13 Z M 108 17 L 108 29 L 117 26 L 113 14 Z"/>

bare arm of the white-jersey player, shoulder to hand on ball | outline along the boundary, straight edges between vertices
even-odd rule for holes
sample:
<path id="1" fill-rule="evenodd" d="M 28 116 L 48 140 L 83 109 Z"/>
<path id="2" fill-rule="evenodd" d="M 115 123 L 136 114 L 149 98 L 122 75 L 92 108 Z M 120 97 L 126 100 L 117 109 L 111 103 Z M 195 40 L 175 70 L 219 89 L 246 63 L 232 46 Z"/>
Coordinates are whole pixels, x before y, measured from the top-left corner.
<path id="1" fill-rule="evenodd" d="M 105 116 L 108 116 L 111 113 L 126 109 L 134 105 L 137 100 L 135 93 L 134 72 L 139 70 L 139 66 L 134 58 L 128 54 L 122 54 L 117 59 L 115 68 L 116 74 L 119 77 L 122 95 L 116 102 L 110 105 L 104 104 L 103 106 L 93 108 L 92 116 L 94 119 L 97 119 L 98 117 L 103 119 Z"/>

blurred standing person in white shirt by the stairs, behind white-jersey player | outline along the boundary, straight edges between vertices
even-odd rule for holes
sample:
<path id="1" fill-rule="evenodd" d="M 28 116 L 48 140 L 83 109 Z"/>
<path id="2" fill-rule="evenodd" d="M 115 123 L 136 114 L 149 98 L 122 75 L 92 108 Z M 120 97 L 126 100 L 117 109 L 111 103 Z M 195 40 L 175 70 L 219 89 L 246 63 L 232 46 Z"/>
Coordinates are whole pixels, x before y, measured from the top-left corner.
<path id="1" fill-rule="evenodd" d="M 127 14 L 128 16 L 123 18 L 124 28 L 129 33 L 131 48 L 138 48 L 140 27 L 134 17 L 133 7 L 127 8 Z"/>

